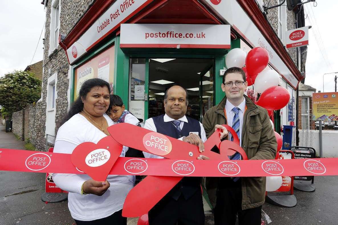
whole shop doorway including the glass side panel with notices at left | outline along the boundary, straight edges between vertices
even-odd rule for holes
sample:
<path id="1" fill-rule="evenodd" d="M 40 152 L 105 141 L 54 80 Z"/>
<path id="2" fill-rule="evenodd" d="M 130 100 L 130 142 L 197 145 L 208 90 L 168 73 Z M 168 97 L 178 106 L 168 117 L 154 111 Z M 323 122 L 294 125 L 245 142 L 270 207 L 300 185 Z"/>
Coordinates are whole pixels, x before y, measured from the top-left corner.
<path id="1" fill-rule="evenodd" d="M 188 90 L 187 116 L 202 121 L 214 106 L 214 59 L 131 58 L 129 111 L 138 118 L 162 115 L 165 91 L 173 85 Z"/>

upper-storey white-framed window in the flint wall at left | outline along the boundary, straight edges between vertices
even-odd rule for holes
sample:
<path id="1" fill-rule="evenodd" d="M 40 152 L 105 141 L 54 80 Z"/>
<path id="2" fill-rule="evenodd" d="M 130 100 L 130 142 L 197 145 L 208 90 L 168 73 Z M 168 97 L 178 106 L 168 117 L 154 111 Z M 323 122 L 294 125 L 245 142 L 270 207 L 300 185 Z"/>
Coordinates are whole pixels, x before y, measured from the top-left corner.
<path id="1" fill-rule="evenodd" d="M 58 0 L 52 1 L 50 13 L 50 37 L 49 37 L 49 55 L 58 47 L 58 37 L 60 28 L 60 3 Z"/>

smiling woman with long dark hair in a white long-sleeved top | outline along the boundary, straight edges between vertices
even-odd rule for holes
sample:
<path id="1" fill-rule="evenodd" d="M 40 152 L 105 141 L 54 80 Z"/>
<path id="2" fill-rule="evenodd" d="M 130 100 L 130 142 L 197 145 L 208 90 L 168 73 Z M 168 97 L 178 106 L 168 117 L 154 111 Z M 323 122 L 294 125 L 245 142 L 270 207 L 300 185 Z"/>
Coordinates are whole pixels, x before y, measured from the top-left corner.
<path id="1" fill-rule="evenodd" d="M 110 86 L 106 81 L 94 78 L 84 82 L 78 99 L 61 122 L 54 152 L 71 154 L 80 143 L 97 143 L 110 135 L 107 128 L 115 122 L 105 114 L 109 104 Z M 125 152 L 124 147 L 120 157 Z M 59 188 L 69 192 L 68 207 L 77 225 L 127 223 L 122 206 L 134 186 L 134 176 L 108 175 L 105 181 L 95 181 L 86 174 L 54 173 L 52 178 Z"/>

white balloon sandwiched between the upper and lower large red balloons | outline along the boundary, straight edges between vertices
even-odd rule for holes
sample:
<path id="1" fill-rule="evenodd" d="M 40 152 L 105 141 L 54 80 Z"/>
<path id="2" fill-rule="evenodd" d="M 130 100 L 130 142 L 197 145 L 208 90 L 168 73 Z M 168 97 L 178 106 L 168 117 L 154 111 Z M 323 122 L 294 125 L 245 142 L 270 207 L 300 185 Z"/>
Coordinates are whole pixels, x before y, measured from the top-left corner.
<path id="1" fill-rule="evenodd" d="M 272 69 L 266 69 L 257 75 L 255 80 L 255 91 L 261 94 L 269 87 L 274 87 L 278 84 L 279 74 Z"/>

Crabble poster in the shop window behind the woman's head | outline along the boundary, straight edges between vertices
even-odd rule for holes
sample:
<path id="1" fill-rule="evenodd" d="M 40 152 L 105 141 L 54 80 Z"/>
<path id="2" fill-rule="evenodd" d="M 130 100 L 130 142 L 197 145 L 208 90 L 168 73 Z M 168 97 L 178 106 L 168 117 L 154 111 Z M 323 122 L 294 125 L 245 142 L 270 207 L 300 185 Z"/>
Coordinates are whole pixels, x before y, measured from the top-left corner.
<path id="1" fill-rule="evenodd" d="M 114 59 L 115 46 L 111 46 L 75 69 L 74 100 L 77 98 L 82 84 L 92 78 L 107 81 L 111 88 L 111 94 L 113 93 Z"/>

